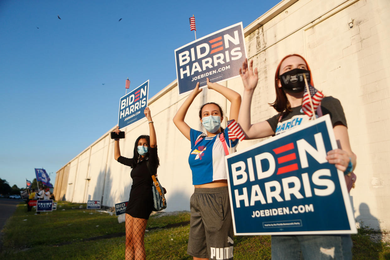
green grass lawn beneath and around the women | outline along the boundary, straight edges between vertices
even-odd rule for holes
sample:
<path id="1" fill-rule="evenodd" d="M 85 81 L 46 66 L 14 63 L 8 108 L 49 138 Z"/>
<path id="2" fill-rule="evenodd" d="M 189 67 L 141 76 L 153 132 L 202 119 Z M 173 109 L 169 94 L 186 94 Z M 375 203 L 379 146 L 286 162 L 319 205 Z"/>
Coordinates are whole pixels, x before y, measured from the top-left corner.
<path id="1" fill-rule="evenodd" d="M 115 214 L 85 207 L 58 202 L 56 211 L 34 215 L 27 212 L 26 204 L 18 205 L 3 230 L 0 259 L 124 259 L 124 223 L 118 223 Z M 147 259 L 192 259 L 186 253 L 189 220 L 189 212 L 151 216 L 145 234 Z M 352 236 L 353 259 L 390 259 L 390 247 L 372 242 L 373 233 L 361 228 Z M 236 236 L 234 259 L 271 259 L 271 238 Z"/>

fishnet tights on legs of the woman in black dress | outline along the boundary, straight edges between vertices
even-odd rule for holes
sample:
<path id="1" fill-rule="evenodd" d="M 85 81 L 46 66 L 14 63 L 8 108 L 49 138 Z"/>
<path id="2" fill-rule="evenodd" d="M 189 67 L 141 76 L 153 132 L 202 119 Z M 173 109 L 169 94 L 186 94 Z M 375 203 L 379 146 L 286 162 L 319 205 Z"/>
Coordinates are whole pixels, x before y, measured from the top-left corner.
<path id="1" fill-rule="evenodd" d="M 144 235 L 147 219 L 133 218 L 126 213 L 126 260 L 145 260 Z"/>

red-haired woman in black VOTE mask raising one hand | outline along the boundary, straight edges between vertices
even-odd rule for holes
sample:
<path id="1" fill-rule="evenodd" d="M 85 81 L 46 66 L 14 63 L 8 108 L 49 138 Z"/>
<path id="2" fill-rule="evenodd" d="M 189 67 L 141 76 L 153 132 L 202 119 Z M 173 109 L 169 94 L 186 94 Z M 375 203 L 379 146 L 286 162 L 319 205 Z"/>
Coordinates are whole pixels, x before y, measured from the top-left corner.
<path id="1" fill-rule="evenodd" d="M 271 106 L 278 114 L 262 122 L 251 124 L 250 106 L 257 86 L 257 68 L 253 60 L 243 62 L 240 75 L 244 85 L 243 100 L 238 122 L 248 139 L 280 134 L 304 124 L 314 116 L 329 114 L 340 149 L 331 150 L 326 159 L 336 168 L 351 175 L 356 165 L 356 156 L 349 144 L 347 122 L 338 99 L 323 97 L 313 87 L 313 79 L 306 60 L 297 54 L 284 57 L 276 70 L 276 100 Z M 306 79 L 305 79 L 306 77 Z M 306 80 L 306 83 L 305 83 Z M 309 88 L 310 95 L 304 95 Z M 311 100 L 310 100 L 310 98 Z M 317 106 L 317 108 L 316 108 Z M 347 179 L 347 178 L 346 178 Z M 351 259 L 352 241 L 349 235 L 273 235 L 271 237 L 272 259 Z"/>

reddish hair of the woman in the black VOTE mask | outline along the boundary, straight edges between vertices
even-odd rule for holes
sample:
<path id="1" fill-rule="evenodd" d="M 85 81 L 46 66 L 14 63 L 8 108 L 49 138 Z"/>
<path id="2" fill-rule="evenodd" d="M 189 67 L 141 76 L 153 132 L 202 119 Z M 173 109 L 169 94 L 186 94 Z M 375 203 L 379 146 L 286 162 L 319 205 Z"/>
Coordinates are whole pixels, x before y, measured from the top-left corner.
<path id="1" fill-rule="evenodd" d="M 291 105 L 290 105 L 290 102 L 288 101 L 287 99 L 287 96 L 284 92 L 284 90 L 282 88 L 279 87 L 279 84 L 280 84 L 280 80 L 279 80 L 279 72 L 280 72 L 280 65 L 282 65 L 282 62 L 286 59 L 286 58 L 289 58 L 291 56 L 298 56 L 300 58 L 302 58 L 302 60 L 305 61 L 306 63 L 306 67 L 307 67 L 307 70 L 310 72 L 310 85 L 314 86 L 313 84 L 313 77 L 312 77 L 312 73 L 310 71 L 310 67 L 309 65 L 307 64 L 307 61 L 305 60 L 305 58 L 303 58 L 301 55 L 299 54 L 290 54 L 290 55 L 287 55 L 285 56 L 284 58 L 282 58 L 282 60 L 279 62 L 279 65 L 278 67 L 276 68 L 276 73 L 275 73 L 275 91 L 276 91 L 276 99 L 275 99 L 275 102 L 274 103 L 269 103 L 273 108 L 275 108 L 276 111 L 278 111 L 279 113 L 289 113 L 291 112 Z"/>

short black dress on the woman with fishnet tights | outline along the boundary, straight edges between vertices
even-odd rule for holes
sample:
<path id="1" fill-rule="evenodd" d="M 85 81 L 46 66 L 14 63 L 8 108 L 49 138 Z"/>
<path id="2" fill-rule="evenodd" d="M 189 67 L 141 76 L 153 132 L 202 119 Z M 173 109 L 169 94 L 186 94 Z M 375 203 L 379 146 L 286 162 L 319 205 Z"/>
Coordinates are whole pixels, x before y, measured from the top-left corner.
<path id="1" fill-rule="evenodd" d="M 126 213 L 133 218 L 149 219 L 153 209 L 153 180 L 147 168 L 147 160 L 152 169 L 157 168 L 157 147 L 149 147 L 149 156 L 142 161 L 136 162 L 133 158 L 123 156 L 118 158 L 119 163 L 133 168 L 130 173 L 133 184 L 131 185 L 129 202 L 126 207 Z"/>

